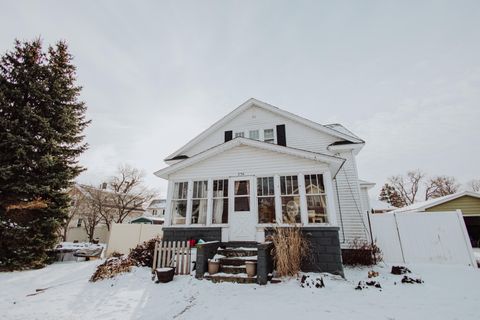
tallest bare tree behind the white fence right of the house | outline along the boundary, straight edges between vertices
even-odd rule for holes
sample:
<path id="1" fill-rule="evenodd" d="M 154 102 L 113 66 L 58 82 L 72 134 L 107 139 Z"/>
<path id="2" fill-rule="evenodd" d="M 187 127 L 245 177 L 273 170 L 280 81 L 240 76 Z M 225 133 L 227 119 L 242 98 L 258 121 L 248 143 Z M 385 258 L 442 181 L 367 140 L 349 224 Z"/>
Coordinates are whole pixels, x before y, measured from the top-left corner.
<path id="1" fill-rule="evenodd" d="M 401 198 L 404 206 L 415 203 L 421 182 L 425 178 L 425 173 L 420 170 L 407 172 L 406 176 L 397 175 L 388 179 L 388 184 L 392 186 Z"/>

